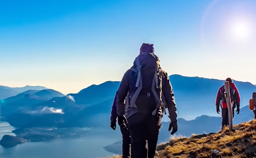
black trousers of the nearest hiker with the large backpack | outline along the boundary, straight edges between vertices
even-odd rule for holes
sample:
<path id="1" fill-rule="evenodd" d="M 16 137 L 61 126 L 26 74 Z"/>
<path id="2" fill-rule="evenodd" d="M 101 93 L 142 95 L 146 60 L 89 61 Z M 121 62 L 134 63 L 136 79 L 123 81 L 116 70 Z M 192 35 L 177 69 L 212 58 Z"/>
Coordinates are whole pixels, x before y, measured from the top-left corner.
<path id="1" fill-rule="evenodd" d="M 135 113 L 128 118 L 131 158 L 154 158 L 160 127 L 161 116 L 152 113 Z"/>

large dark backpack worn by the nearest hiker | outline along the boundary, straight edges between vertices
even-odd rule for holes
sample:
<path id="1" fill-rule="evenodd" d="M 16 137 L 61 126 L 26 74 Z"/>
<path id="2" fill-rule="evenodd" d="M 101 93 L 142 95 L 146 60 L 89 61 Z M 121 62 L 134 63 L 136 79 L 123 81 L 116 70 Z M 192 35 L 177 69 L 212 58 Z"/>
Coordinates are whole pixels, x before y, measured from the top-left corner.
<path id="1" fill-rule="evenodd" d="M 140 66 L 136 66 L 136 60 L 138 60 Z M 155 83 L 159 83 L 159 81 L 155 82 L 155 73 L 157 71 L 156 61 L 156 56 L 151 53 L 141 53 L 134 61 L 134 67 L 129 81 L 131 98 L 134 98 L 135 105 L 140 112 L 152 113 L 156 107 L 153 92 L 153 88 L 155 89 L 156 87 Z M 138 67 L 140 67 L 140 72 L 137 69 Z M 140 79 L 138 79 L 138 76 Z"/>

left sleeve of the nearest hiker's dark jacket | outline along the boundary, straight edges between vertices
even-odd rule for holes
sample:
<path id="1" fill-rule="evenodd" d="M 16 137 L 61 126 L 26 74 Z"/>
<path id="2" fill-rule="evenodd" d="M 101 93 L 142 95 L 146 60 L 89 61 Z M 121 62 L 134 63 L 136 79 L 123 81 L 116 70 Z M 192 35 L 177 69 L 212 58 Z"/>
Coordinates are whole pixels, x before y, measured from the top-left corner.
<path id="1" fill-rule="evenodd" d="M 117 90 L 117 94 L 116 94 L 116 112 L 118 116 L 122 116 L 125 114 L 125 98 L 127 96 L 128 93 L 128 88 L 129 88 L 129 84 L 128 84 L 128 77 L 129 77 L 129 73 L 130 71 L 128 70 L 123 78 L 122 81 L 120 83 L 120 86 Z"/>

